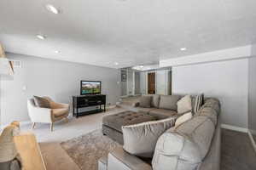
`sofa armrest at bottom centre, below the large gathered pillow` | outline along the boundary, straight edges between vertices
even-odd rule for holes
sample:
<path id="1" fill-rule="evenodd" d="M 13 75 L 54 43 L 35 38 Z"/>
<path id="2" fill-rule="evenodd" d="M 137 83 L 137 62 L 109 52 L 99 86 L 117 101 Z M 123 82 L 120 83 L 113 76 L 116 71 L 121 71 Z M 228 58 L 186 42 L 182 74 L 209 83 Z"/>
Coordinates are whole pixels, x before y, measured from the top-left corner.
<path id="1" fill-rule="evenodd" d="M 148 163 L 119 147 L 108 154 L 108 170 L 152 170 Z"/>

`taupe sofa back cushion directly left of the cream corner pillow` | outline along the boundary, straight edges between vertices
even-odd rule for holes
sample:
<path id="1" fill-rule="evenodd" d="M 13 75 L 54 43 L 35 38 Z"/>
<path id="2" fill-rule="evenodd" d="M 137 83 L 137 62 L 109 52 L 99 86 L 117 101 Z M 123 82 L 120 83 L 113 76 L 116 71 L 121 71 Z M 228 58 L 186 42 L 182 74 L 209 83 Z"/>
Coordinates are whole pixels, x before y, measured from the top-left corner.
<path id="1" fill-rule="evenodd" d="M 160 109 L 169 109 L 177 111 L 177 101 L 181 99 L 179 95 L 160 95 Z"/>

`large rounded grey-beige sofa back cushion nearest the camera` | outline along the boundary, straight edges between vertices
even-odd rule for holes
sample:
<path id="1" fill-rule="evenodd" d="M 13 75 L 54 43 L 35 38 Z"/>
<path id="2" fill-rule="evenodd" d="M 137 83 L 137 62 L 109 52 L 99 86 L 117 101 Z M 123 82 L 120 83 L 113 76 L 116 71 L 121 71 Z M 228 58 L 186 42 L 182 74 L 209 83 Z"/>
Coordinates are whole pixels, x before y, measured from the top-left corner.
<path id="1" fill-rule="evenodd" d="M 152 166 L 154 170 L 196 169 L 207 155 L 215 126 L 207 116 L 195 116 L 171 128 L 158 139 Z"/>

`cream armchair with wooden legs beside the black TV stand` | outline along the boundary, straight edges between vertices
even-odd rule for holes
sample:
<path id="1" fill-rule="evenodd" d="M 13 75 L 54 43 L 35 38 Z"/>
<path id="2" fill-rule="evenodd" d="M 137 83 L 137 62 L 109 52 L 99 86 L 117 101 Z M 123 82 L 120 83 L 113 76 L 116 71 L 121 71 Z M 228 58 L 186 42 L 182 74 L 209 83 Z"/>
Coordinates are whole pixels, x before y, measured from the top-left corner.
<path id="1" fill-rule="evenodd" d="M 50 123 L 50 131 L 53 131 L 53 123 L 66 119 L 69 113 L 69 105 L 56 103 L 49 97 L 44 97 L 49 100 L 49 108 L 41 108 L 35 105 L 34 99 L 27 100 L 28 115 L 32 121 L 32 128 L 36 126 L 37 122 Z"/>

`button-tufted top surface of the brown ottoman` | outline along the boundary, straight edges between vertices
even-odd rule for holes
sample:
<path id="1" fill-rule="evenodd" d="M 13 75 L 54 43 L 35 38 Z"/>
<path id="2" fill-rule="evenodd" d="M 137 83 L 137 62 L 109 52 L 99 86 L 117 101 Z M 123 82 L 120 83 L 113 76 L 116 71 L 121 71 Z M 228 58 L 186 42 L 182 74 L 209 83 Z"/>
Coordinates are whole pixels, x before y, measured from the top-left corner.
<path id="1" fill-rule="evenodd" d="M 142 112 L 123 111 L 118 114 L 104 116 L 102 123 L 122 133 L 122 126 L 133 125 L 140 122 L 154 121 L 154 116 Z"/>

